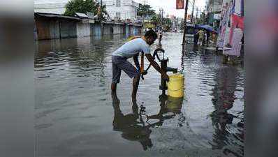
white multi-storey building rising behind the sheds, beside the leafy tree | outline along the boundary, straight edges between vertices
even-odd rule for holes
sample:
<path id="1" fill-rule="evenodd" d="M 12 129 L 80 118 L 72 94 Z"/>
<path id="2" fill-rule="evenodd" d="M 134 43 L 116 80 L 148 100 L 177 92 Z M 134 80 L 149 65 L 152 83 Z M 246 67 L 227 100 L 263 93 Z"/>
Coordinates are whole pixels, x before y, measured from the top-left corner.
<path id="1" fill-rule="evenodd" d="M 131 20 L 137 19 L 139 3 L 133 0 L 103 0 L 111 19 Z"/>

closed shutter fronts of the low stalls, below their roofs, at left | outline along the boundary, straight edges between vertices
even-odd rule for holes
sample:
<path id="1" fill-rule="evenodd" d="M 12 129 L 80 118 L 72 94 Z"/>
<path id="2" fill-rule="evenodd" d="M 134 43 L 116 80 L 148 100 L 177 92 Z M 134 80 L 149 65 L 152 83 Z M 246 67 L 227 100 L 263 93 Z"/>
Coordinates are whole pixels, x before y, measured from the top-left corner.
<path id="1" fill-rule="evenodd" d="M 89 24 L 63 18 L 39 17 L 35 19 L 35 27 L 35 40 L 101 36 L 101 24 L 99 23 Z M 142 33 L 141 30 L 140 26 L 133 26 L 131 24 L 103 24 L 103 35 L 128 34 L 128 36 L 131 36 Z"/>

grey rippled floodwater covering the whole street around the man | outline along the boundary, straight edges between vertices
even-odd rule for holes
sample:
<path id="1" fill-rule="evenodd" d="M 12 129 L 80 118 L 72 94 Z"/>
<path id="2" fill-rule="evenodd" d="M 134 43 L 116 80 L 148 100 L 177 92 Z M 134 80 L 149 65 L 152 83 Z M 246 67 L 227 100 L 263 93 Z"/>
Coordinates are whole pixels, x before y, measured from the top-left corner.
<path id="1" fill-rule="evenodd" d="M 184 98 L 160 98 L 160 75 L 150 68 L 140 80 L 137 109 L 125 73 L 120 103 L 110 95 L 111 54 L 125 41 L 35 43 L 36 156 L 243 156 L 242 66 L 223 65 L 221 56 L 191 44 L 183 53 L 182 33 L 166 33 L 162 47 L 168 66 L 184 73 Z"/>

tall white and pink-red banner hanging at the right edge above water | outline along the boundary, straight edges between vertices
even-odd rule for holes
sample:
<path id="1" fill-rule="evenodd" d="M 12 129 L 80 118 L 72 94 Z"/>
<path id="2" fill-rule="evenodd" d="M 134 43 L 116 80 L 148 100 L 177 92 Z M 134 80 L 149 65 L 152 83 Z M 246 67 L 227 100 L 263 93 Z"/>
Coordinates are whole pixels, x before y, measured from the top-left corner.
<path id="1" fill-rule="evenodd" d="M 240 56 L 244 30 L 244 0 L 228 0 L 223 3 L 217 47 L 223 54 Z"/>

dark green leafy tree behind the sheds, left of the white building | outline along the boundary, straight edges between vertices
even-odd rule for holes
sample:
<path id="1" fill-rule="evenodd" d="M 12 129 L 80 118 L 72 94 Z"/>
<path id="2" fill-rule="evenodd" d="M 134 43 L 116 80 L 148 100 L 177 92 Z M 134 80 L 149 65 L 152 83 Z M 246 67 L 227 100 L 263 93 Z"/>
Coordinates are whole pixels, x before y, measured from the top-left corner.
<path id="1" fill-rule="evenodd" d="M 101 6 L 99 2 L 94 0 L 71 0 L 66 4 L 66 12 L 64 15 L 73 16 L 75 13 L 87 13 L 92 12 L 94 15 L 98 15 L 98 7 Z M 101 18 L 105 19 L 105 15 L 109 16 L 106 11 L 106 6 L 101 7 Z M 103 16 L 104 15 L 104 16 Z"/>

